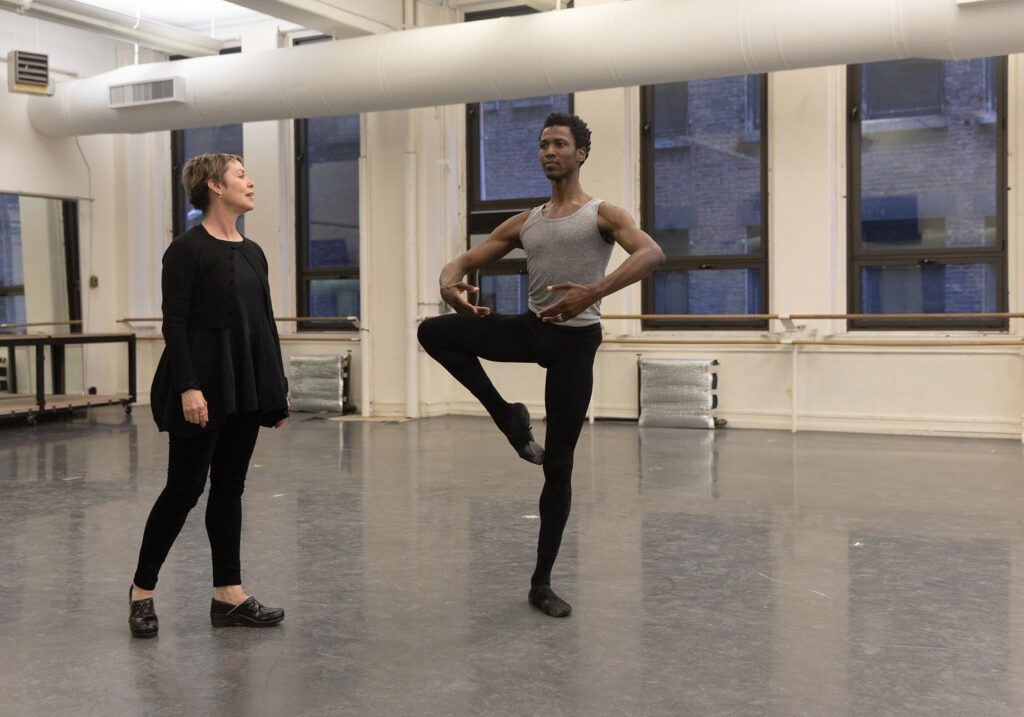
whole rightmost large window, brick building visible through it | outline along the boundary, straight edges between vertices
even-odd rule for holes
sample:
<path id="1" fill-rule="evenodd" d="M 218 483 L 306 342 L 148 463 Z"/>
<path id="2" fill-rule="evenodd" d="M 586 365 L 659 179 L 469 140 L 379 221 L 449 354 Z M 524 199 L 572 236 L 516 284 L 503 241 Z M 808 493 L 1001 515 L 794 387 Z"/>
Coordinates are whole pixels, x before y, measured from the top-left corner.
<path id="1" fill-rule="evenodd" d="M 1006 329 L 1006 58 L 849 70 L 852 329 Z"/>

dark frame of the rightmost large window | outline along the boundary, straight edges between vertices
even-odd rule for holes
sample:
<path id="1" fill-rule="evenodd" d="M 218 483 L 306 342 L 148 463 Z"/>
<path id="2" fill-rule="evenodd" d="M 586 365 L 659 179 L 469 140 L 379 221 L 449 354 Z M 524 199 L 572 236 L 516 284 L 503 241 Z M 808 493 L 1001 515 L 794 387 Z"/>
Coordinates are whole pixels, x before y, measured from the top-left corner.
<path id="1" fill-rule="evenodd" d="M 862 123 L 861 117 L 861 78 L 862 65 L 851 65 L 847 68 L 847 311 L 852 314 L 862 313 L 862 289 L 860 283 L 861 269 L 869 266 L 928 266 L 945 265 L 950 262 L 956 265 L 973 263 L 995 263 L 996 270 L 996 308 L 995 312 L 1008 310 L 1009 305 L 1009 261 L 1008 261 L 1008 192 L 1009 192 L 1009 158 L 1007 111 L 1008 111 L 1008 60 L 997 56 L 989 58 L 996 62 L 996 96 L 995 96 L 995 231 L 996 241 L 993 247 L 970 248 L 926 248 L 926 249 L 889 249 L 865 252 L 861 249 L 861 149 Z M 986 66 L 987 72 L 987 66 Z M 986 80 L 987 83 L 987 80 Z M 945 94 L 943 95 L 945 97 Z M 928 331 L 928 330 L 959 330 L 959 331 L 999 331 L 1009 329 L 1007 319 L 945 319 L 943 314 L 935 314 L 935 319 L 850 319 L 847 320 L 849 331 Z"/>

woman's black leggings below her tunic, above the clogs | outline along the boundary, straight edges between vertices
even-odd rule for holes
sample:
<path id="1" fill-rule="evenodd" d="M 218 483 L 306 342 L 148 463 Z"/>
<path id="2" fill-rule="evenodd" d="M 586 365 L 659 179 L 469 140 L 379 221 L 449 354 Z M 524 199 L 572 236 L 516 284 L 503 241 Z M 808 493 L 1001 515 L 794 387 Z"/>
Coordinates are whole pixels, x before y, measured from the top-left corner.
<path id="1" fill-rule="evenodd" d="M 157 498 L 142 534 L 135 585 L 157 587 L 160 568 L 196 507 L 210 475 L 206 533 L 213 557 L 213 585 L 242 584 L 242 493 L 259 433 L 259 414 L 228 416 L 223 425 L 195 436 L 171 434 L 167 486 Z"/>

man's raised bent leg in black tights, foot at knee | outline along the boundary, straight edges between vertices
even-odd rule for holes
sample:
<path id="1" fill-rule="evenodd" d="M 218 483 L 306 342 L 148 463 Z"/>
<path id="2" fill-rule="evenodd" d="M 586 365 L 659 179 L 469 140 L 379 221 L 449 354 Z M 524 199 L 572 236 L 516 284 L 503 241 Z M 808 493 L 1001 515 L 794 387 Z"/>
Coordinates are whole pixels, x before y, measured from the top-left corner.
<path id="1" fill-rule="evenodd" d="M 450 313 L 420 324 L 418 336 L 427 353 L 486 409 L 516 453 L 531 463 L 541 463 L 544 449 L 534 440 L 526 407 L 505 400 L 480 365 L 480 358 L 536 363 L 523 321 L 523 317 Z"/>

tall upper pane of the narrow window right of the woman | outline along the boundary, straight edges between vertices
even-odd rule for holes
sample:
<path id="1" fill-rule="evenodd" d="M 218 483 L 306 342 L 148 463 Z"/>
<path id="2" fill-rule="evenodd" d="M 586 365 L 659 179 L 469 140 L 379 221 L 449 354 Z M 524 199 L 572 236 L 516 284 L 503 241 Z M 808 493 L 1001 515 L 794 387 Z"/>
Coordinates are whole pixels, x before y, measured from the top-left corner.
<path id="1" fill-rule="evenodd" d="M 359 265 L 359 116 L 306 120 L 309 268 Z"/>

